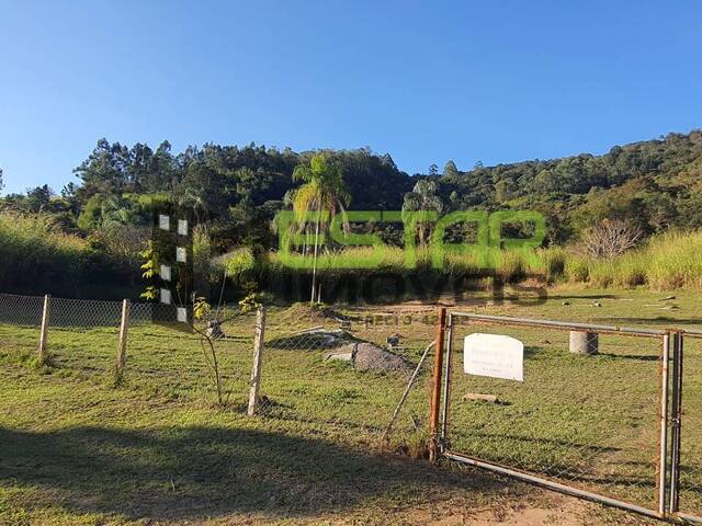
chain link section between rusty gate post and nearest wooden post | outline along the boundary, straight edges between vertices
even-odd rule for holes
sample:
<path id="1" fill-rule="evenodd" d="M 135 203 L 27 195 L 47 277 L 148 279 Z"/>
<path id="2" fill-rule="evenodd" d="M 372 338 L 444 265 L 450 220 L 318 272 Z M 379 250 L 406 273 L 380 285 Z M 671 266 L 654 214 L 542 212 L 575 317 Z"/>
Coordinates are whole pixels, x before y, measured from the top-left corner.
<path id="1" fill-rule="evenodd" d="M 432 310 L 269 309 L 257 414 L 292 421 L 301 433 L 365 444 L 385 438 L 386 447 L 423 455 L 431 361 L 418 365 L 434 328 Z"/>

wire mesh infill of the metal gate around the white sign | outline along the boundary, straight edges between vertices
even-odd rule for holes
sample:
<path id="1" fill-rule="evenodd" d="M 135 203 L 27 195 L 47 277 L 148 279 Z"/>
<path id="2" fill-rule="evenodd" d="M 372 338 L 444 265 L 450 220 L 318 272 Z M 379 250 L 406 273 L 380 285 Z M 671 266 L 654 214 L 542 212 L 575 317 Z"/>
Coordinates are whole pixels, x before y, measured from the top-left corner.
<path id="1" fill-rule="evenodd" d="M 574 354 L 569 331 L 454 319 L 446 447 L 657 508 L 660 338 L 591 331 Z M 474 332 L 523 342 L 524 381 L 466 375 Z"/>

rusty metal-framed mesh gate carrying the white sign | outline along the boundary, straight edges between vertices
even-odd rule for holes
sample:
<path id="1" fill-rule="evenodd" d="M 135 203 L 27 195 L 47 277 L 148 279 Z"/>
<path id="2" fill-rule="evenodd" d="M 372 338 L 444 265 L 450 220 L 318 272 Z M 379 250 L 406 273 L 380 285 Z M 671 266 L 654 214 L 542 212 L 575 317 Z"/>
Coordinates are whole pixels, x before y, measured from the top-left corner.
<path id="1" fill-rule="evenodd" d="M 524 381 L 456 367 L 474 332 L 522 341 Z M 569 353 L 571 333 L 589 333 L 597 354 Z M 702 344 L 702 332 L 448 312 L 433 454 L 650 517 L 701 521 L 702 441 L 684 430 L 702 436 L 702 345 L 683 368 L 684 336 Z"/>

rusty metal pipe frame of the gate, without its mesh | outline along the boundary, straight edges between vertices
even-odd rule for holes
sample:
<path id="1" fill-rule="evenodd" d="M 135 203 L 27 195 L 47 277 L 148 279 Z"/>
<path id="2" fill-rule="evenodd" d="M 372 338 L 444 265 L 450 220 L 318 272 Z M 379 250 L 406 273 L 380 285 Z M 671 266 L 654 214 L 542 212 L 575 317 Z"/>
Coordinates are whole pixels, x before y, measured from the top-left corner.
<path id="1" fill-rule="evenodd" d="M 440 316 L 440 323 L 437 331 L 437 354 L 445 353 L 445 358 L 437 356 L 434 363 L 434 384 L 432 391 L 432 404 L 431 404 L 431 421 L 432 423 L 439 420 L 439 408 L 433 403 L 437 399 L 441 401 L 441 426 L 440 430 L 432 425 L 432 457 L 434 459 L 439 456 L 449 458 L 454 461 L 466 464 L 469 466 L 476 466 L 479 468 L 488 469 L 501 474 L 510 476 L 525 482 L 535 483 L 547 489 L 559 491 L 569 495 L 578 496 L 581 499 L 599 502 L 610 506 L 619 507 L 630 512 L 635 512 L 641 515 L 645 515 L 652 518 L 659 519 L 672 519 L 678 522 L 698 522 L 699 517 L 682 514 L 676 511 L 673 512 L 673 499 L 677 498 L 679 483 L 677 477 L 679 477 L 679 441 L 680 441 L 680 411 L 681 411 L 681 395 L 682 395 L 682 336 L 681 332 L 670 329 L 634 329 L 626 327 L 615 325 L 601 325 L 591 323 L 576 323 L 576 322 L 563 322 L 553 320 L 539 320 L 530 318 L 514 318 L 505 316 L 489 316 L 489 315 L 476 315 L 471 312 L 451 311 L 448 315 L 448 323 L 444 323 L 443 312 L 445 309 L 441 309 L 442 316 Z M 450 420 L 450 395 L 451 395 L 451 370 L 453 362 L 453 329 L 455 324 L 455 317 L 466 318 L 468 323 L 471 320 L 490 322 L 494 324 L 510 325 L 510 327 L 542 327 L 559 330 L 570 331 L 595 331 L 602 334 L 620 334 L 631 335 L 638 338 L 652 338 L 659 340 L 660 351 L 658 357 L 659 364 L 659 391 L 658 402 L 660 408 L 660 430 L 658 441 L 658 461 L 656 462 L 656 510 L 650 510 L 645 506 L 632 504 L 619 499 L 612 499 L 599 493 L 581 490 L 571 485 L 555 482 L 535 473 L 528 472 L 508 466 L 502 466 L 497 462 L 490 462 L 473 458 L 458 451 L 451 450 L 448 427 Z M 445 331 L 445 335 L 444 335 Z M 689 334 L 695 334 L 697 338 L 702 338 L 702 331 L 687 331 Z M 443 345 L 443 338 L 439 340 L 440 335 L 448 339 L 448 344 Z M 442 352 L 443 351 L 443 352 Z M 672 351 L 672 353 L 671 353 Z M 669 363 L 672 359 L 672 373 L 673 373 L 673 399 L 669 407 L 670 395 L 670 367 Z M 443 364 L 442 364 L 443 362 Z M 443 365 L 443 370 L 441 367 Z M 443 378 L 442 378 L 443 376 Z M 437 381 L 437 379 L 439 380 Z M 443 391 L 443 392 L 442 392 Z M 443 396 L 443 400 L 441 400 Z M 672 413 L 670 414 L 672 409 Z M 671 445 L 670 458 L 668 458 L 668 436 L 670 432 L 670 422 L 672 419 L 677 419 L 677 424 L 671 432 Z M 676 431 L 677 430 L 677 431 Z M 669 462 L 670 460 L 670 462 Z M 702 522 L 702 521 L 701 521 Z"/>

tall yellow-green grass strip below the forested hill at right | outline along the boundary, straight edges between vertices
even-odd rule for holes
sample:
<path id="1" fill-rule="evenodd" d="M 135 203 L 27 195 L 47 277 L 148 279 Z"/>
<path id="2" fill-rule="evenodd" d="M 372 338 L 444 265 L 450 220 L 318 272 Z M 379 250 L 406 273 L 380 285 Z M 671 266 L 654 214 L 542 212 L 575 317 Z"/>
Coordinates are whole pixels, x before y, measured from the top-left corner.
<path id="1" fill-rule="evenodd" d="M 359 277 L 372 271 L 395 272 L 430 279 L 444 276 L 485 275 L 497 276 L 507 283 L 525 278 L 539 278 L 548 284 L 573 283 L 591 287 L 637 287 L 654 289 L 702 289 L 702 231 L 668 232 L 652 238 L 646 244 L 613 259 L 591 259 L 565 248 L 553 247 L 533 252 L 501 251 L 494 259 L 495 266 L 487 267 L 476 254 L 448 254 L 441 270 L 433 268 L 429 249 L 419 249 L 416 265 L 406 265 L 406 253 L 400 248 L 386 248 L 381 263 L 374 270 L 342 268 L 350 261 L 370 258 L 372 248 L 352 248 L 326 254 L 331 270 L 327 275 Z M 341 268 L 335 265 L 341 264 Z M 276 253 L 271 253 L 264 264 L 269 271 L 281 275 L 291 272 Z M 303 273 L 305 271 L 302 271 Z"/>

